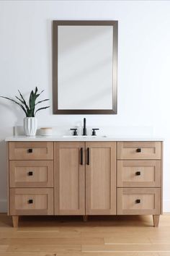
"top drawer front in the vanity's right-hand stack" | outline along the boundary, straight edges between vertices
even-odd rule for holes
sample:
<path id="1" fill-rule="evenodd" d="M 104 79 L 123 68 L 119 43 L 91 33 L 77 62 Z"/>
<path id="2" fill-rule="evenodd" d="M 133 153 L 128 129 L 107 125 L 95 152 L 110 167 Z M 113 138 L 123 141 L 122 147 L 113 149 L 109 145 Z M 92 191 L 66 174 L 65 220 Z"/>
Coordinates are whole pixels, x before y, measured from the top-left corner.
<path id="1" fill-rule="evenodd" d="M 161 159 L 161 142 L 117 142 L 118 159 Z"/>

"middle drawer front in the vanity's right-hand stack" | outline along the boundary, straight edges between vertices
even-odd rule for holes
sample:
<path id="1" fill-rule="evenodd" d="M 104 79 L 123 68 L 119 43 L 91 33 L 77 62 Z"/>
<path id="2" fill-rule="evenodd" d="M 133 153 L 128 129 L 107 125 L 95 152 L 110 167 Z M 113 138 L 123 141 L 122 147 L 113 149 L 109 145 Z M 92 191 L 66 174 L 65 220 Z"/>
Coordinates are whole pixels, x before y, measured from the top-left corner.
<path id="1" fill-rule="evenodd" d="M 161 187 L 161 161 L 117 161 L 117 187 Z"/>

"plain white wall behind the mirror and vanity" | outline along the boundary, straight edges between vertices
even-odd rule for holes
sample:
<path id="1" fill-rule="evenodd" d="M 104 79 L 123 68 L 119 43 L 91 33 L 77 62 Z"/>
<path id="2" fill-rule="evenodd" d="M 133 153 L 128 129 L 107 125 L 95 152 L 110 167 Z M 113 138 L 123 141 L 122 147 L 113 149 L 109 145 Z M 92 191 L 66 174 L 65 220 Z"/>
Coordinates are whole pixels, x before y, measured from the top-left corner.
<path id="1" fill-rule="evenodd" d="M 86 116 L 89 125 L 151 126 L 164 142 L 164 210 L 170 211 L 170 2 L 0 1 L 0 94 L 35 85 L 52 98 L 51 21 L 118 20 L 118 114 Z M 0 99 L 0 210 L 6 208 L 4 138 L 23 114 Z M 40 125 L 73 125 L 83 116 L 38 115 Z"/>

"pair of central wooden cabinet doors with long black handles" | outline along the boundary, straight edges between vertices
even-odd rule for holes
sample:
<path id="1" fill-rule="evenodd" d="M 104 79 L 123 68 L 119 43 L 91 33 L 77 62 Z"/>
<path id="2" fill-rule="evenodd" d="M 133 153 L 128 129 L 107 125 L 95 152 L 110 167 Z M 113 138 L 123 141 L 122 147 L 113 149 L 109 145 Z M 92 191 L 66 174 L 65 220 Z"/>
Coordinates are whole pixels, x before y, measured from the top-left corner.
<path id="1" fill-rule="evenodd" d="M 55 214 L 116 214 L 116 142 L 54 142 Z"/>

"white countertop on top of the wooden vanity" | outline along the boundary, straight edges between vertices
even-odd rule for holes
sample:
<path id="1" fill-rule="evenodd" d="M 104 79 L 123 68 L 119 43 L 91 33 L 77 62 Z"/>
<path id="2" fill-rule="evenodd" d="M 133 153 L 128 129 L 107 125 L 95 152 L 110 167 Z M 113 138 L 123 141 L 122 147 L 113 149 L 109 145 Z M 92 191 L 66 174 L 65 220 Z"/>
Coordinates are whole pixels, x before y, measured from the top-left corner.
<path id="1" fill-rule="evenodd" d="M 160 137 L 114 137 L 114 136 L 88 136 L 88 137 L 64 137 L 61 136 L 12 136 L 6 137 L 5 141 L 164 141 Z"/>

